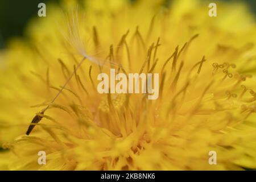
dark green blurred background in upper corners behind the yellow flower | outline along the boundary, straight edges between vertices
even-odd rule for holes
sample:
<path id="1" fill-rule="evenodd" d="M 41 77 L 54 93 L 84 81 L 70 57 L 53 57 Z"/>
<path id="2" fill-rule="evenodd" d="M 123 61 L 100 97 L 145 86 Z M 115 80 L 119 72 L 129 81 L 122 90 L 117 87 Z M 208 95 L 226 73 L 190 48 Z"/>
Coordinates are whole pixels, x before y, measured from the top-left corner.
<path id="1" fill-rule="evenodd" d="M 88 0 L 94 1 L 94 0 Z M 136 0 L 130 0 L 136 1 Z M 154 1 L 154 0 L 148 0 Z M 167 0 L 171 1 L 171 0 Z M 191 0 L 193 1 L 193 0 Z M 204 1 L 204 0 L 203 0 Z M 235 0 L 222 0 L 222 1 L 235 1 Z M 242 0 L 241 0 L 242 1 Z M 0 0 L 0 48 L 3 48 L 7 39 L 13 36 L 22 36 L 24 27 L 32 16 L 38 13 L 38 4 L 40 2 L 56 2 L 59 0 L 42 1 L 42 0 Z M 212 2 L 217 2 L 212 0 Z M 256 0 L 243 0 L 249 6 L 251 11 L 256 14 Z M 47 8 L 46 8 L 47 12 Z M 46 16 L 47 17 L 47 16 Z"/>

